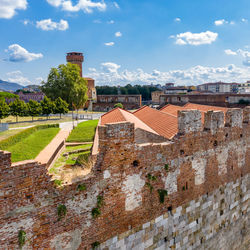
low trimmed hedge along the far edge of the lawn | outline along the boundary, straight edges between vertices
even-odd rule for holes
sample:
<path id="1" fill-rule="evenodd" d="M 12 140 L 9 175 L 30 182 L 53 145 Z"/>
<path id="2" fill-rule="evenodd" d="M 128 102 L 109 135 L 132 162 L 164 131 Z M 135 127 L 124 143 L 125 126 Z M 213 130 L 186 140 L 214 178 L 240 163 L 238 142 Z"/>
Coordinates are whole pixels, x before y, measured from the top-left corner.
<path id="1" fill-rule="evenodd" d="M 45 124 L 45 125 L 38 125 L 35 127 L 27 128 L 21 131 L 20 133 L 10 136 L 5 140 L 0 141 L 0 149 L 4 150 L 8 147 L 15 145 L 16 143 L 22 141 L 27 136 L 31 135 L 37 130 L 46 129 L 46 128 L 59 128 L 59 124 Z"/>

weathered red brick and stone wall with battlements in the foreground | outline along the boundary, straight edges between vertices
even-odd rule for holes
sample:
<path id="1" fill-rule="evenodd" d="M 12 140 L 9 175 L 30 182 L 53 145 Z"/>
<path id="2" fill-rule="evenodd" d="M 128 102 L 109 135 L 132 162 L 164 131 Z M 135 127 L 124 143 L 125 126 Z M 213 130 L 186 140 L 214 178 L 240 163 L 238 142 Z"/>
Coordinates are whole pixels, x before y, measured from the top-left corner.
<path id="1" fill-rule="evenodd" d="M 204 131 L 196 113 L 180 117 L 180 134 L 162 143 L 136 144 L 131 123 L 100 126 L 92 172 L 59 188 L 45 166 L 11 165 L 10 154 L 0 152 L 0 249 L 17 249 L 19 230 L 27 233 L 26 249 L 89 249 L 95 242 L 216 249 L 219 236 L 219 249 L 247 244 L 249 112 L 228 112 L 227 127 L 221 115 L 205 116 Z M 67 209 L 60 220 L 59 204 Z"/>

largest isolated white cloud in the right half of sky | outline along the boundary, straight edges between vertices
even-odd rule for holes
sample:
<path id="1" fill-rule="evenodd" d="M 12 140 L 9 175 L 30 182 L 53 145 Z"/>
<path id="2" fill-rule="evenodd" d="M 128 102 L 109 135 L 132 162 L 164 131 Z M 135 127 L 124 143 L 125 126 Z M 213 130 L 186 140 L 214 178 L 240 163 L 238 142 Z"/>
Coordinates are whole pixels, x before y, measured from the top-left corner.
<path id="1" fill-rule="evenodd" d="M 211 44 L 216 41 L 218 37 L 218 33 L 214 33 L 212 31 L 206 31 L 201 33 L 191 33 L 185 32 L 180 33 L 176 36 L 171 36 L 171 38 L 176 39 L 176 44 L 178 45 L 202 45 L 202 44 Z"/>

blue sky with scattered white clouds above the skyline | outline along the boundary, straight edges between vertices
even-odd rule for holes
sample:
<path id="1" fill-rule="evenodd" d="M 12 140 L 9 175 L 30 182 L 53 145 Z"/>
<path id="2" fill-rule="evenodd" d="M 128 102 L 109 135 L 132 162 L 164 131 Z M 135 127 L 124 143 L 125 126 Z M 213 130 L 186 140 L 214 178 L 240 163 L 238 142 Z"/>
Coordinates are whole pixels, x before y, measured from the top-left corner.
<path id="1" fill-rule="evenodd" d="M 249 0 L 0 0 L 0 79 L 83 52 L 97 85 L 250 80 Z"/>

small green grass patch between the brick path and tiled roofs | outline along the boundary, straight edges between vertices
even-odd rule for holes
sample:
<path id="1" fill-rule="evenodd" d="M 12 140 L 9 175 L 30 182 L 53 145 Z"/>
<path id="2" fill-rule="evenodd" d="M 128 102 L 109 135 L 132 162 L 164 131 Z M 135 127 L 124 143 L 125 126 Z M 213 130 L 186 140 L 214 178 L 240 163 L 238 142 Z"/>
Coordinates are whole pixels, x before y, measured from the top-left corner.
<path id="1" fill-rule="evenodd" d="M 67 142 L 91 142 L 94 140 L 98 120 L 79 123 L 70 133 Z"/>

